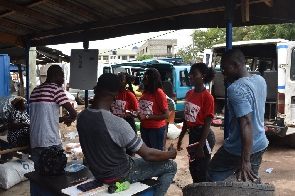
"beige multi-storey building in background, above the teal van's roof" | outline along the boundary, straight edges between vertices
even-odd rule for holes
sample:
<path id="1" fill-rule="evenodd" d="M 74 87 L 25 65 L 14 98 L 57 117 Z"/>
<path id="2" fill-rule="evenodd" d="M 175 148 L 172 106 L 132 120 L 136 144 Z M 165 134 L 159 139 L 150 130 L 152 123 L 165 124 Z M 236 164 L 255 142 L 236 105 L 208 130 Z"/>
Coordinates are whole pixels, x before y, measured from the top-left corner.
<path id="1" fill-rule="evenodd" d="M 153 59 L 172 58 L 175 56 L 177 39 L 151 39 L 147 40 L 137 50 L 137 55 L 152 55 Z"/>

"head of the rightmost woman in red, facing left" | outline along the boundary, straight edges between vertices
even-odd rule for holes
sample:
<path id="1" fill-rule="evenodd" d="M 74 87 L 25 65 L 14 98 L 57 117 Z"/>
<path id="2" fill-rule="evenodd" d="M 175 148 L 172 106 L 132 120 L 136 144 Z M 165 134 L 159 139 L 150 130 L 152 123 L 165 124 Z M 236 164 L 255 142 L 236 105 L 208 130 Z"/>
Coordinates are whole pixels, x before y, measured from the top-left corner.
<path id="1" fill-rule="evenodd" d="M 214 77 L 214 69 L 205 63 L 195 63 L 190 68 L 189 79 L 192 86 L 209 83 Z"/>

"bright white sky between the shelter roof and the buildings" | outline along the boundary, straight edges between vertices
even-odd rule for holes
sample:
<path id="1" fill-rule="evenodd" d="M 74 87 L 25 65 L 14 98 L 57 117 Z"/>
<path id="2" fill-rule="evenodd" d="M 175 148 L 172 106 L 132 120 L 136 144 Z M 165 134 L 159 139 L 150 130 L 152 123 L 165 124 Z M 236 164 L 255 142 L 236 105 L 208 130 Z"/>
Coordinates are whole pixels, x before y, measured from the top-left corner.
<path id="1" fill-rule="evenodd" d="M 176 51 L 192 44 L 194 29 L 169 30 L 150 33 L 141 33 L 135 35 L 126 35 L 122 37 L 110 38 L 105 40 L 97 40 L 89 42 L 89 49 L 132 49 L 134 46 L 140 47 L 148 39 L 177 39 Z M 129 46 L 128 46 L 129 45 Z M 71 49 L 83 49 L 83 43 L 68 43 L 59 45 L 48 45 L 47 47 L 62 51 L 70 56 Z"/>

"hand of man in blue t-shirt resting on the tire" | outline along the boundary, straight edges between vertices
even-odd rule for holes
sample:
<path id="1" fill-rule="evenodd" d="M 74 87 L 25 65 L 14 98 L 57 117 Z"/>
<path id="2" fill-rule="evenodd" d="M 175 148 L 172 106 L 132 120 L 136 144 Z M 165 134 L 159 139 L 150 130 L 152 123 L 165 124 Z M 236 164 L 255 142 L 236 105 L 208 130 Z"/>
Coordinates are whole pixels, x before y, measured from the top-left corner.
<path id="1" fill-rule="evenodd" d="M 235 172 L 237 175 L 237 180 L 239 182 L 244 181 L 247 182 L 248 179 L 252 182 L 255 182 L 258 179 L 258 176 L 254 174 L 252 171 L 251 163 L 249 162 L 242 162 L 240 167 Z"/>

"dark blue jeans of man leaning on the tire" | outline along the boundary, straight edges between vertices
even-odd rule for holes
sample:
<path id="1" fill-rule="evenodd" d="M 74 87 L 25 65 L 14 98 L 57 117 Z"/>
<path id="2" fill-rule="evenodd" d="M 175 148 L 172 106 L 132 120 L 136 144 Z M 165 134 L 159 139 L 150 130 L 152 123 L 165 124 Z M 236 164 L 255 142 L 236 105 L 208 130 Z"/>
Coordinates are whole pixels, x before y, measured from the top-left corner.
<path id="1" fill-rule="evenodd" d="M 250 156 L 252 171 L 258 175 L 262 162 L 262 155 L 266 149 Z M 209 182 L 223 181 L 238 169 L 241 157 L 230 154 L 221 146 L 214 154 L 207 167 L 207 180 Z"/>

